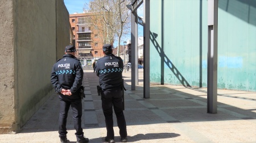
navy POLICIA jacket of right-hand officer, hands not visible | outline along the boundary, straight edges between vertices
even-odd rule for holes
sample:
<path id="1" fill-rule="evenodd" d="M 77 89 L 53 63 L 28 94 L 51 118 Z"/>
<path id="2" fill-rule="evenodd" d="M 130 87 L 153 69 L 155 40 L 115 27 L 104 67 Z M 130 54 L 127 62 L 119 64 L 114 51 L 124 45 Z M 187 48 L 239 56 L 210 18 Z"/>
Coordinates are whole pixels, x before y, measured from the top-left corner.
<path id="1" fill-rule="evenodd" d="M 123 60 L 110 54 L 98 59 L 95 71 L 100 77 L 100 86 L 103 90 L 121 88 L 123 85 Z"/>

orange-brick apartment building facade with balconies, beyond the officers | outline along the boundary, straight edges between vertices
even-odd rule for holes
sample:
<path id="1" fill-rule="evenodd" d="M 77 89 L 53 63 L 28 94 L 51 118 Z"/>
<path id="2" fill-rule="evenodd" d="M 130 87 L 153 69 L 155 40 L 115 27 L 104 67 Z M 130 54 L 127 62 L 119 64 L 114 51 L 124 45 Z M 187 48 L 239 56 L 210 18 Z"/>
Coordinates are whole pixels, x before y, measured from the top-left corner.
<path id="1" fill-rule="evenodd" d="M 70 14 L 69 22 L 73 31 L 73 44 L 77 49 L 77 58 L 82 65 L 91 67 L 94 61 L 104 57 L 102 53 L 103 42 L 100 33 L 94 30 L 91 16 L 93 12 L 84 11 L 82 14 Z"/>

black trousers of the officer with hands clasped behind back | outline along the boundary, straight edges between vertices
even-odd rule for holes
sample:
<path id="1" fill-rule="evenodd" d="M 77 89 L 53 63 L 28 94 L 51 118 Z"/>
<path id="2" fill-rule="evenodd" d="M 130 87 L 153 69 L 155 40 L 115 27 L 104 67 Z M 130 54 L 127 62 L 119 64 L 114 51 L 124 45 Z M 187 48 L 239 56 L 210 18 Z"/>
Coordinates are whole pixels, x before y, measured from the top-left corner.
<path id="1" fill-rule="evenodd" d="M 67 116 L 68 110 L 71 106 L 73 111 L 73 121 L 74 127 L 76 129 L 77 141 L 80 141 L 84 137 L 84 132 L 82 132 L 81 127 L 81 117 L 82 117 L 82 102 L 80 99 L 69 99 L 68 97 L 60 96 L 60 115 L 59 115 L 59 137 L 67 137 Z"/>

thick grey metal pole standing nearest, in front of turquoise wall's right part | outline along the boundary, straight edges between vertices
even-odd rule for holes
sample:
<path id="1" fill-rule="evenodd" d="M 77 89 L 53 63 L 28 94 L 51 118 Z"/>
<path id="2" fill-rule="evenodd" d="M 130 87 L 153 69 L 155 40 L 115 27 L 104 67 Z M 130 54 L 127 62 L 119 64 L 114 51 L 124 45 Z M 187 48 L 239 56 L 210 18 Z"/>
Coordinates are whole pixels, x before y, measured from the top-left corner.
<path id="1" fill-rule="evenodd" d="M 208 0 L 207 112 L 217 113 L 218 0 Z"/>

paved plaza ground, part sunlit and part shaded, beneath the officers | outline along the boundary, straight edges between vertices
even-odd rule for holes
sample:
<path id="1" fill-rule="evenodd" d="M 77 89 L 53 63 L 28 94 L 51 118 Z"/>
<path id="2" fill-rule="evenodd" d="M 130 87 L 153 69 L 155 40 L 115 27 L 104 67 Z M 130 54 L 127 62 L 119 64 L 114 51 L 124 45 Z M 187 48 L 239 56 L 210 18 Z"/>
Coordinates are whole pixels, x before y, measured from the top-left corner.
<path id="1" fill-rule="evenodd" d="M 150 98 L 143 98 L 142 71 L 137 90 L 130 90 L 131 72 L 123 73 L 129 142 L 256 142 L 256 92 L 218 90 L 218 113 L 208 114 L 206 88 L 151 85 Z M 82 127 L 90 142 L 104 142 L 105 120 L 96 85 L 96 74 L 86 71 Z M 0 135 L 0 142 L 59 142 L 58 117 L 59 98 L 53 94 L 22 132 Z M 119 142 L 115 116 L 114 126 Z M 76 142 L 71 110 L 67 128 L 68 141 Z"/>

